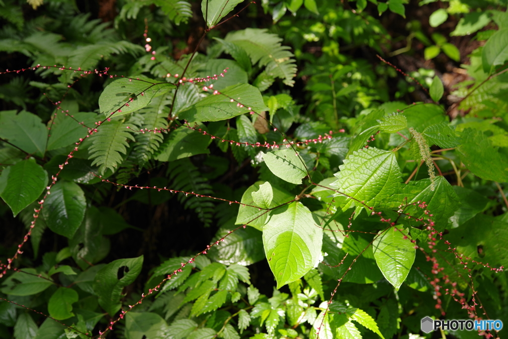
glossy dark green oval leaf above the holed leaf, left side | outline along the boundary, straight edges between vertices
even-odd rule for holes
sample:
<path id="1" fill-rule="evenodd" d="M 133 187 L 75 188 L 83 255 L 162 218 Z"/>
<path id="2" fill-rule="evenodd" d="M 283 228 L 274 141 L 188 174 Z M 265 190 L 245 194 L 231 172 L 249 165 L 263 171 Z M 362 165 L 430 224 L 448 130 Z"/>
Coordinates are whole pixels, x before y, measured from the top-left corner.
<path id="1" fill-rule="evenodd" d="M 86 200 L 77 183 L 59 180 L 51 188 L 42 209 L 49 229 L 72 238 L 83 221 Z"/>

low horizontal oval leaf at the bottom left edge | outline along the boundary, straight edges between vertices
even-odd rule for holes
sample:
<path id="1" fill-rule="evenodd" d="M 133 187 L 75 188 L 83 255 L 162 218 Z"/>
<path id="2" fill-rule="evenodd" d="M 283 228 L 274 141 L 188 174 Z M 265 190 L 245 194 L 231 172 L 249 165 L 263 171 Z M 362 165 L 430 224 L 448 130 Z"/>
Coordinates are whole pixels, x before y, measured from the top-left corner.
<path id="1" fill-rule="evenodd" d="M 14 272 L 2 284 L 2 293 L 26 296 L 44 291 L 53 285 L 53 282 L 46 273 L 37 272 L 34 268 L 23 268 Z"/>

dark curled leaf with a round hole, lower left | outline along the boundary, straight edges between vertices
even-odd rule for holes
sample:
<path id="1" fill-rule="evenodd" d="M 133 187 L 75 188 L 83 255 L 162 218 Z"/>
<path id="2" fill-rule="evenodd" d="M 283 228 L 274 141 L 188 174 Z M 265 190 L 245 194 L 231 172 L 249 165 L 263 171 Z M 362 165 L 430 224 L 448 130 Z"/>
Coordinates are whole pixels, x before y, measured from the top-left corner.
<path id="1" fill-rule="evenodd" d="M 93 291 L 99 297 L 102 308 L 114 315 L 120 310 L 122 290 L 130 285 L 141 272 L 143 256 L 131 259 L 118 259 L 110 262 L 97 272 Z"/>

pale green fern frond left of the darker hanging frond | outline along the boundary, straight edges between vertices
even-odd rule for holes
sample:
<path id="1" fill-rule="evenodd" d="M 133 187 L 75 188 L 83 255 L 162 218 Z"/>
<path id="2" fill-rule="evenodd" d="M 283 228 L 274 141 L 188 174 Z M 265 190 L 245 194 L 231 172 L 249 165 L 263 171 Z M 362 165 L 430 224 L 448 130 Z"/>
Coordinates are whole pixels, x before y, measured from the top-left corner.
<path id="1" fill-rule="evenodd" d="M 127 139 L 135 141 L 127 126 L 121 120 L 107 121 L 90 137 L 92 145 L 88 148 L 90 152 L 88 159 L 93 159 L 92 166 L 99 165 L 101 174 L 108 168 L 114 172 L 123 161 L 120 153 L 127 153 L 126 147 L 129 147 Z"/>

